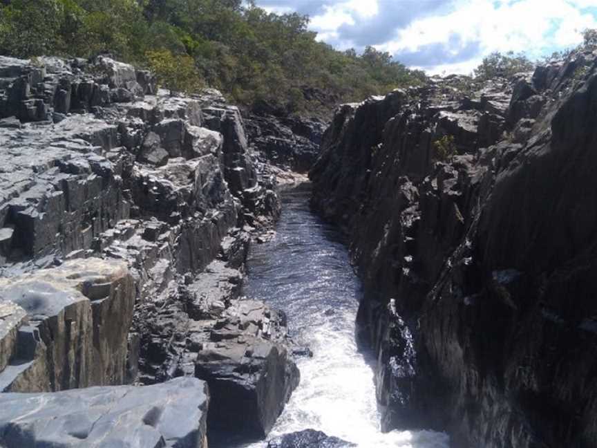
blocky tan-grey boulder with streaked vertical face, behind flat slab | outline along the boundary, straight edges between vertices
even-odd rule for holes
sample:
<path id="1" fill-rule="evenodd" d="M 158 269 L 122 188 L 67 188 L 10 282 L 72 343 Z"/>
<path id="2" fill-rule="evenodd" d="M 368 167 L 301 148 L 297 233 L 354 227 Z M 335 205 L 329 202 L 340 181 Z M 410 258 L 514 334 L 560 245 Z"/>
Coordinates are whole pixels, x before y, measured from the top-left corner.
<path id="1" fill-rule="evenodd" d="M 133 279 L 115 261 L 67 261 L 0 279 L 0 306 L 8 310 L 1 327 L 0 389 L 122 384 L 134 304 Z"/>

